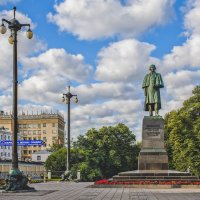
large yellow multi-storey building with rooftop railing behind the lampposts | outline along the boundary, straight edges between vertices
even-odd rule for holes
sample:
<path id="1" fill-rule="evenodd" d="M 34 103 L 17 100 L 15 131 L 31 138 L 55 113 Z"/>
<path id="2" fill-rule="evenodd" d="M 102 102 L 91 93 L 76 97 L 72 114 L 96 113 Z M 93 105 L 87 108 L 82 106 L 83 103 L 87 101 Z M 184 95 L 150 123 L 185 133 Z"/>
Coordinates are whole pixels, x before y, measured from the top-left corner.
<path id="1" fill-rule="evenodd" d="M 12 115 L 0 113 L 0 127 L 12 132 Z M 21 159 L 31 160 L 32 153 L 48 150 L 53 143 L 64 144 L 64 117 L 56 113 L 22 113 L 18 116 L 18 137 L 20 140 L 43 140 L 42 146 L 23 146 Z"/>

